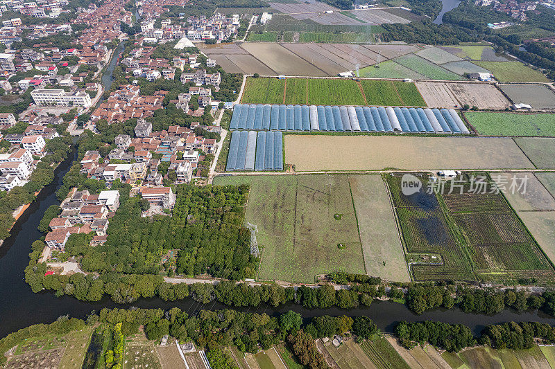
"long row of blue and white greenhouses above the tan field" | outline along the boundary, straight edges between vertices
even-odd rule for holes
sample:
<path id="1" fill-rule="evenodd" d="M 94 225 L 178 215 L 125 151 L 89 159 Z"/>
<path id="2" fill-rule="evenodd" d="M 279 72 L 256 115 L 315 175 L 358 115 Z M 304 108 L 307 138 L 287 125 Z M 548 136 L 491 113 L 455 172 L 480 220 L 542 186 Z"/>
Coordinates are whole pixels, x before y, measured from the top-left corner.
<path id="1" fill-rule="evenodd" d="M 230 129 L 469 134 L 454 109 L 237 104 Z"/>

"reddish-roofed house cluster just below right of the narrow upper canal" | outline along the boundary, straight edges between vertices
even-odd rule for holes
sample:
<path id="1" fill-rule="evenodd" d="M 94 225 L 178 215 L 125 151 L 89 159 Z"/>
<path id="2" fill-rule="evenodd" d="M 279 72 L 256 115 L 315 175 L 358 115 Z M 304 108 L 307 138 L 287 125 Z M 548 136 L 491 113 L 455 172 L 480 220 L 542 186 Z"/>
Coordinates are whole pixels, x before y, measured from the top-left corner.
<path id="1" fill-rule="evenodd" d="M 168 91 L 155 91 L 153 96 L 142 96 L 139 86 L 121 85 L 92 112 L 91 119 L 93 122 L 101 119 L 112 122 L 151 117 L 154 111 L 162 109 L 162 100 L 167 93 Z"/>

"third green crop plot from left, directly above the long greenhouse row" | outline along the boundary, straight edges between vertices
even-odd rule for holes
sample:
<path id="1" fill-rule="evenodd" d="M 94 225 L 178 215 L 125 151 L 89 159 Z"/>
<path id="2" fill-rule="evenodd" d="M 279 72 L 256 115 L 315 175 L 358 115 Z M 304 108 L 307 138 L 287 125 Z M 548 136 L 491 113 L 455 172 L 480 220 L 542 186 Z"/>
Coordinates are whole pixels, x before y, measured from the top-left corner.
<path id="1" fill-rule="evenodd" d="M 357 82 L 338 79 L 309 79 L 309 105 L 365 105 Z"/>

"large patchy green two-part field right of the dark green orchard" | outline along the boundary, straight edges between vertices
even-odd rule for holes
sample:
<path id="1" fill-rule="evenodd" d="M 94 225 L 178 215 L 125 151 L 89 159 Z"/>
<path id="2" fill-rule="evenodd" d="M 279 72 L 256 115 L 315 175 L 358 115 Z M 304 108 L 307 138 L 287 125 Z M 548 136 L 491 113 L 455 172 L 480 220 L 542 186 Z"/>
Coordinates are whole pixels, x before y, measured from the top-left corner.
<path id="1" fill-rule="evenodd" d="M 246 222 L 258 226 L 258 244 L 264 248 L 259 278 L 310 283 L 336 269 L 364 273 L 346 175 L 214 179 L 216 185 L 239 183 L 251 186 Z"/>

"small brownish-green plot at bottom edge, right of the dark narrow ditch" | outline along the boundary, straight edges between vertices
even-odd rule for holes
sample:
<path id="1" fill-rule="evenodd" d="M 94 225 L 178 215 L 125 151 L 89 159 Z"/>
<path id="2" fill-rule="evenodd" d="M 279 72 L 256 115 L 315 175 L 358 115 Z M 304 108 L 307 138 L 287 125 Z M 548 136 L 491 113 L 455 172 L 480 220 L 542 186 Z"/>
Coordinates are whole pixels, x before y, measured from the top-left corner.
<path id="1" fill-rule="evenodd" d="M 175 345 L 173 348 L 177 351 Z M 162 351 L 167 350 L 167 348 L 158 348 Z M 162 356 L 162 354 L 160 355 Z M 181 358 L 181 363 L 183 362 Z M 158 359 L 156 349 L 151 341 L 147 341 L 144 336 L 137 334 L 133 337 L 130 342 L 126 343 L 125 354 L 123 354 L 123 363 L 126 369 L 138 369 L 138 368 L 153 368 L 161 369 L 162 364 Z M 169 363 L 164 363 L 164 368 L 169 368 Z"/>

